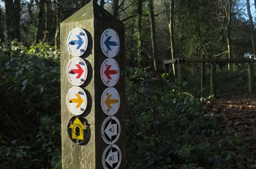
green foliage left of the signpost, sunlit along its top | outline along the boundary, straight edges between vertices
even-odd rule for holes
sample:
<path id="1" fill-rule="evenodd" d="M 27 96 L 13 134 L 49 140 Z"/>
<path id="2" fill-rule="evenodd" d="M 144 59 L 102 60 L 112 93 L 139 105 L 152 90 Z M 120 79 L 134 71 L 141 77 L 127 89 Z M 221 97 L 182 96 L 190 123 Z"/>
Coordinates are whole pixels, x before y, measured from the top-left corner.
<path id="1" fill-rule="evenodd" d="M 59 168 L 59 52 L 14 40 L 0 55 L 1 168 Z"/>

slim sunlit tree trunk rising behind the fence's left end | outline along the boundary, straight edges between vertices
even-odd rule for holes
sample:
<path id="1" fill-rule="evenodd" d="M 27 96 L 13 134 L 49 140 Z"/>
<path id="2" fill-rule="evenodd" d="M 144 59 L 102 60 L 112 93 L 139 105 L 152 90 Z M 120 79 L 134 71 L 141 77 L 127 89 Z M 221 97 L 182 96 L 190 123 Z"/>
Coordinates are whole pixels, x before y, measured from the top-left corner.
<path id="1" fill-rule="evenodd" d="M 174 26 L 173 26 L 173 9 L 174 9 L 174 0 L 171 0 L 170 3 L 170 21 L 169 21 L 169 31 L 170 31 L 170 36 L 171 36 L 171 54 L 172 54 L 172 59 L 174 59 Z M 175 76 L 175 65 L 172 64 L 172 69 L 173 69 L 173 75 Z"/>

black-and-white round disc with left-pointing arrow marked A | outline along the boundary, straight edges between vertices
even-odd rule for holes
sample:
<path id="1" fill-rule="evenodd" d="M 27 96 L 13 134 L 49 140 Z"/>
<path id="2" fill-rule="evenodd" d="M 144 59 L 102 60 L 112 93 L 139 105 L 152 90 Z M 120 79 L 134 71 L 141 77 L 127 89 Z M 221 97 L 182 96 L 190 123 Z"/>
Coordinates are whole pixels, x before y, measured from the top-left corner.
<path id="1" fill-rule="evenodd" d="M 105 143 L 114 144 L 120 136 L 120 122 L 115 116 L 107 117 L 101 126 L 101 136 Z"/>

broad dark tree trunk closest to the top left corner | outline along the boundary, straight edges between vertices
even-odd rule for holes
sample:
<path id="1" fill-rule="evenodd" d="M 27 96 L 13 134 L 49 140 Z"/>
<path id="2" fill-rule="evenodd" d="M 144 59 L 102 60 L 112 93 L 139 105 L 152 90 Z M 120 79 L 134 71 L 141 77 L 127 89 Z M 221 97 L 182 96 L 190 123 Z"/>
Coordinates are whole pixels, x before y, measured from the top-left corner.
<path id="1" fill-rule="evenodd" d="M 14 25 L 14 4 L 13 0 L 5 0 L 5 16 L 6 16 L 6 30 L 7 37 L 11 40 L 15 39 L 15 25 Z"/>

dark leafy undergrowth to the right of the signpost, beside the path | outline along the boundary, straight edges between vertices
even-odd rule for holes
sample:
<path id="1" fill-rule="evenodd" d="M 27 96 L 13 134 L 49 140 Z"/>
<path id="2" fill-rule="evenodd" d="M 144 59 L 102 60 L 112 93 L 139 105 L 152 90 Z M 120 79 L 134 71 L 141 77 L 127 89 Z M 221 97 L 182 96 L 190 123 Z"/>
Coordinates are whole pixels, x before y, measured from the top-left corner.
<path id="1" fill-rule="evenodd" d="M 155 77 L 154 77 L 155 76 Z M 129 169 L 254 168 L 246 138 L 223 125 L 225 116 L 184 86 L 129 69 L 126 134 Z M 218 103 L 216 103 L 218 105 Z M 242 138 L 241 138 L 242 137 Z M 254 151 L 253 151 L 254 153 Z"/>

